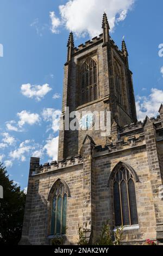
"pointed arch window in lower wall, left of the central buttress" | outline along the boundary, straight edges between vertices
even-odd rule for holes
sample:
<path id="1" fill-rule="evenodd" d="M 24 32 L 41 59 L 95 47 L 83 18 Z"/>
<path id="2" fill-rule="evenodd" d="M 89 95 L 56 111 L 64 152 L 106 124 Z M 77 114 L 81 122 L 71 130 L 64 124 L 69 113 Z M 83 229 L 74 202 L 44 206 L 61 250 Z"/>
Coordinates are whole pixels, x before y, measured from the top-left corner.
<path id="1" fill-rule="evenodd" d="M 51 235 L 66 233 L 66 210 L 68 190 L 60 180 L 53 188 L 52 212 L 51 212 Z"/>

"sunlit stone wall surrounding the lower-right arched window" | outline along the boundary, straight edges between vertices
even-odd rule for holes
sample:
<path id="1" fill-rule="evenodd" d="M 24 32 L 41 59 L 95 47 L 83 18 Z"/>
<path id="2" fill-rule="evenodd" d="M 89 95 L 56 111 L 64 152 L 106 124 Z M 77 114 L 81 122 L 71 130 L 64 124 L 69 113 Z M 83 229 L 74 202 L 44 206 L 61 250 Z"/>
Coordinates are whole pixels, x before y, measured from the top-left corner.
<path id="1" fill-rule="evenodd" d="M 96 234 L 105 220 L 110 220 L 111 227 L 115 227 L 113 193 L 108 180 L 111 170 L 118 162 L 128 163 L 139 176 L 135 182 L 137 214 L 139 229 L 137 227 L 124 232 L 125 242 L 141 242 L 148 237 L 156 240 L 156 220 L 149 172 L 148 158 L 145 149 L 130 149 L 120 153 L 106 154 L 96 157 Z"/>

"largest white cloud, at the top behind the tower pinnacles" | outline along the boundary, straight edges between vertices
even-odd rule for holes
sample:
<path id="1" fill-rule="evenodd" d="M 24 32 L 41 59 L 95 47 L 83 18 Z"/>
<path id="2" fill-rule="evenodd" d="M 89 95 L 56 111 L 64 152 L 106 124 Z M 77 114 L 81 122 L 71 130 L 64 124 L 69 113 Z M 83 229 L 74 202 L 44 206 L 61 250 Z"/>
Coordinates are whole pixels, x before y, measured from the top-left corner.
<path id="1" fill-rule="evenodd" d="M 77 36 L 88 33 L 91 37 L 101 33 L 102 15 L 108 15 L 111 30 L 117 22 L 126 19 L 128 11 L 133 7 L 135 0 L 68 0 L 60 5 L 60 21 L 54 14 L 54 33 L 60 24 L 64 24 L 68 31 Z M 57 19 L 58 22 L 55 20 Z"/>

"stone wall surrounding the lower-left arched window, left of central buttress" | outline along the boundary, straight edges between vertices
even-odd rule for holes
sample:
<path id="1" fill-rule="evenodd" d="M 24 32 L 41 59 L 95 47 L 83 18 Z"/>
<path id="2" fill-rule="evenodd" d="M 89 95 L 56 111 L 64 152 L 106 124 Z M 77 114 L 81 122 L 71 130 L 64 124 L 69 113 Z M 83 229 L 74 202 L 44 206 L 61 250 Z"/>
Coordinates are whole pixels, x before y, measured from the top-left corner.
<path id="1" fill-rule="evenodd" d="M 78 223 L 83 225 L 83 164 L 72 165 L 71 168 L 52 169 L 51 172 L 34 174 L 29 178 L 33 182 L 33 191 L 30 197 L 29 231 L 26 236 L 32 245 L 49 243 L 51 209 L 48 194 L 58 179 L 66 182 L 71 193 L 67 200 L 67 243 L 77 243 Z M 27 199 L 28 197 L 29 194 L 27 194 Z"/>

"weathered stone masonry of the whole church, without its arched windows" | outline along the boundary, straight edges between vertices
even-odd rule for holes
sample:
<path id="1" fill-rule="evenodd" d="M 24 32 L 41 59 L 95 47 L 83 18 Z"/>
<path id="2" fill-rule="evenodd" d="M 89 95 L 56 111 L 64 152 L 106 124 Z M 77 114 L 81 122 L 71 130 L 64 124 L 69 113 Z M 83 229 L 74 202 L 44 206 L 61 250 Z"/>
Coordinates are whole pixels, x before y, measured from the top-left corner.
<path id="1" fill-rule="evenodd" d="M 107 24 L 106 24 L 107 25 Z M 106 26 L 108 29 L 108 25 Z M 72 35 L 71 35 L 72 36 Z M 111 135 L 101 131 L 60 131 L 58 162 L 39 166 L 30 162 L 28 193 L 21 244 L 49 243 L 51 197 L 49 193 L 58 179 L 68 186 L 66 243 L 76 244 L 78 224 L 90 229 L 88 239 L 95 241 L 103 222 L 115 227 L 114 197 L 111 177 L 123 162 L 136 173 L 135 191 L 139 226 L 124 232 L 127 245 L 142 244 L 146 239 L 163 240 L 163 108 L 155 118 L 136 121 L 135 99 L 128 54 L 118 50 L 110 36 L 87 41 L 68 49 L 65 64 L 62 117 L 70 111 L 111 111 Z M 124 48 L 124 47 L 123 47 Z M 71 51 L 70 51 L 71 50 Z M 123 49 L 124 50 L 124 49 Z M 80 69 L 87 57 L 98 66 L 99 99 L 79 105 Z M 120 70 L 122 106 L 117 102 L 115 69 Z M 105 120 L 104 120 L 105 121 Z"/>

